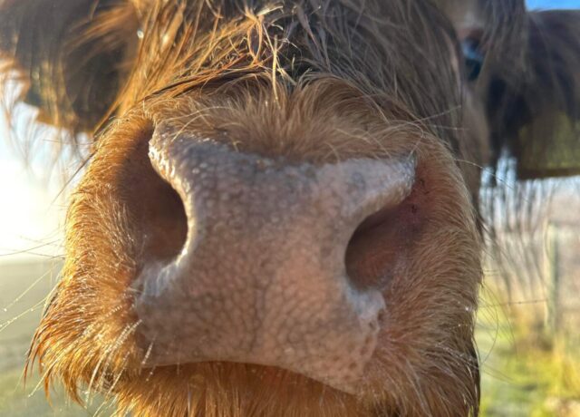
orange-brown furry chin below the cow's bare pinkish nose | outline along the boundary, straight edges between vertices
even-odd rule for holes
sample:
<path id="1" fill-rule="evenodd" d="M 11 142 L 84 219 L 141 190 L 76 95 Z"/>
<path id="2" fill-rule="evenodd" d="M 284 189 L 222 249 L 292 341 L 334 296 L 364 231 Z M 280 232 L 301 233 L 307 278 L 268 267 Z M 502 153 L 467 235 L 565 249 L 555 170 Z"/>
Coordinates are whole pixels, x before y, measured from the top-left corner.
<path id="1" fill-rule="evenodd" d="M 213 362 L 156 369 L 148 389 L 123 384 L 121 408 L 138 415 L 364 416 L 372 404 L 299 373 L 256 364 Z M 127 402 L 123 402 L 123 399 Z M 137 406 L 131 399 L 140 398 Z"/>

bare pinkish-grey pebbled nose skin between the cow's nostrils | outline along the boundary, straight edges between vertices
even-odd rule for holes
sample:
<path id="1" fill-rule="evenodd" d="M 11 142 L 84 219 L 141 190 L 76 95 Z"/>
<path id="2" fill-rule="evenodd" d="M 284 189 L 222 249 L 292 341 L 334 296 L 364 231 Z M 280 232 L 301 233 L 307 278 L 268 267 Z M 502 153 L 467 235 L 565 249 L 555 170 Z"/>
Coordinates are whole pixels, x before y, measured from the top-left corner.
<path id="1" fill-rule="evenodd" d="M 381 292 L 344 255 L 362 221 L 409 195 L 412 160 L 291 165 L 159 126 L 150 160 L 188 218 L 178 257 L 134 283 L 144 364 L 263 364 L 355 393 Z"/>

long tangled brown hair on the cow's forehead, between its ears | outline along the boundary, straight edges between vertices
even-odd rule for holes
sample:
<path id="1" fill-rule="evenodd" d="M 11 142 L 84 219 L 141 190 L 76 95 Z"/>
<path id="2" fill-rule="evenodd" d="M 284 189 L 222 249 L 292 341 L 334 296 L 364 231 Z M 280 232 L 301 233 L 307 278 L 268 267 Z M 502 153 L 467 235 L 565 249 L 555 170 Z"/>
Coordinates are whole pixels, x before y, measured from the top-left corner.
<path id="1" fill-rule="evenodd" d="M 136 67 L 152 77 L 140 84 L 141 96 L 243 75 L 290 85 L 333 76 L 429 117 L 459 93 L 449 63 L 452 28 L 429 2 L 178 1 L 154 7 L 143 30 Z"/>

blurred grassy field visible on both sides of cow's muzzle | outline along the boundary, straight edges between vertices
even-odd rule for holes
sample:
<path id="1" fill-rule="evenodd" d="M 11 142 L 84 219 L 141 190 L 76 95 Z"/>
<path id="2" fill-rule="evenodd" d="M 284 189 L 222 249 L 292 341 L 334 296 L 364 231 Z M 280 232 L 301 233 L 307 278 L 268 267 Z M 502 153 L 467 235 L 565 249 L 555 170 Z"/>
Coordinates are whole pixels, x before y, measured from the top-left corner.
<path id="1" fill-rule="evenodd" d="M 26 349 L 59 267 L 0 264 L 0 416 L 82 416 L 99 410 L 98 400 L 85 409 L 58 392 L 51 393 L 49 405 L 37 374 L 23 386 Z M 489 288 L 483 292 L 478 315 L 482 415 L 580 416 L 578 332 L 546 335 L 544 305 L 508 303 L 498 294 Z"/>

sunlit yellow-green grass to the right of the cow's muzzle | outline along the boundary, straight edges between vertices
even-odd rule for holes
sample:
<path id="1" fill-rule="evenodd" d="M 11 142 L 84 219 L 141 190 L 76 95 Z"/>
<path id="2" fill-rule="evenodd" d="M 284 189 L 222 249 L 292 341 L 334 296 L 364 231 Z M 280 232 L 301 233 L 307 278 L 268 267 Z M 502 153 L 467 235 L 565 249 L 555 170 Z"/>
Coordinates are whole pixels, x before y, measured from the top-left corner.
<path id="1" fill-rule="evenodd" d="M 482 297 L 476 338 L 483 416 L 580 416 L 580 337 L 547 335 L 541 306 Z"/>

